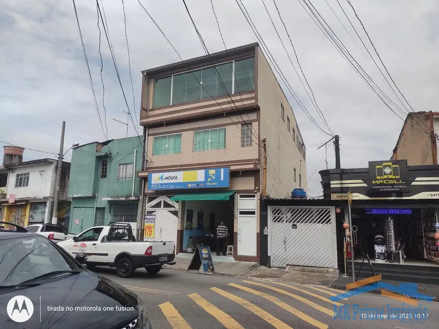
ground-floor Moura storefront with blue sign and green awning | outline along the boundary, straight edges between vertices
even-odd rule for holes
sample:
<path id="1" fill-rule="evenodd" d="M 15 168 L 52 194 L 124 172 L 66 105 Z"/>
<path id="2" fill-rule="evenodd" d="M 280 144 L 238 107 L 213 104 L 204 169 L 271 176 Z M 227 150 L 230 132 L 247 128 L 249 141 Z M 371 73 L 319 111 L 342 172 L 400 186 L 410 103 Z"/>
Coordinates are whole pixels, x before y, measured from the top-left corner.
<path id="1" fill-rule="evenodd" d="M 198 244 L 216 251 L 216 229 L 228 229 L 226 254 L 258 261 L 255 183 L 230 168 L 150 172 L 145 189 L 145 240 L 176 241 L 177 253 L 191 253 Z M 209 238 L 213 234 L 213 238 Z"/>

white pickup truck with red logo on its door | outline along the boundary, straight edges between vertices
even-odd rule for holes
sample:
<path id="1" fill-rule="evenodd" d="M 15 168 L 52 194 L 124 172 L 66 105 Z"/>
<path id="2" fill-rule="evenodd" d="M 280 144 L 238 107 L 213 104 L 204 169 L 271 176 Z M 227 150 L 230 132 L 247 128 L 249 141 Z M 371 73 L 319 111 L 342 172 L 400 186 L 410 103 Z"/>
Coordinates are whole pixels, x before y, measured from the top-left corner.
<path id="1" fill-rule="evenodd" d="M 175 242 L 136 241 L 129 224 L 95 226 L 58 245 L 73 257 L 77 253 L 87 253 L 89 269 L 115 267 L 120 277 L 131 276 L 140 267 L 149 274 L 156 274 L 164 264 L 175 264 Z"/>

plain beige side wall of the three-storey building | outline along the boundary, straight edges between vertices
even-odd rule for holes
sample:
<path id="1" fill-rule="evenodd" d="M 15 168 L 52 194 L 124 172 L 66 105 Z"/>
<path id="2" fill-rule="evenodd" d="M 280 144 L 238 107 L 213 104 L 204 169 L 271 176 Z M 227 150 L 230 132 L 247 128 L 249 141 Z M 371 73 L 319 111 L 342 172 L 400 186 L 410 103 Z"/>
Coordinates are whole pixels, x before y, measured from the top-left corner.
<path id="1" fill-rule="evenodd" d="M 291 196 L 291 191 L 299 187 L 300 162 L 302 186 L 307 180 L 306 161 L 297 147 L 297 139 L 303 140 L 293 109 L 259 47 L 257 57 L 261 138 L 267 138 L 267 194 L 278 198 Z M 281 103 L 285 109 L 285 121 L 281 117 Z M 290 118 L 290 131 L 287 129 L 287 116 Z M 293 128 L 296 141 L 293 139 Z"/>

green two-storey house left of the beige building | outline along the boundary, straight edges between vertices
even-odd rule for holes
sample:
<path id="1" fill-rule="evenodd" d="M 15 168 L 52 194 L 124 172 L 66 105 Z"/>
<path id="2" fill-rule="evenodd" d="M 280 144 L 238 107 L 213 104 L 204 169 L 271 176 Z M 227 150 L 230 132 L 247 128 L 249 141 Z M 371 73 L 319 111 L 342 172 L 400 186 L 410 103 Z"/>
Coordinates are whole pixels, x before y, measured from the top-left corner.
<path id="1" fill-rule="evenodd" d="M 71 233 L 128 222 L 136 230 L 143 136 L 92 142 L 72 152 L 68 195 Z"/>

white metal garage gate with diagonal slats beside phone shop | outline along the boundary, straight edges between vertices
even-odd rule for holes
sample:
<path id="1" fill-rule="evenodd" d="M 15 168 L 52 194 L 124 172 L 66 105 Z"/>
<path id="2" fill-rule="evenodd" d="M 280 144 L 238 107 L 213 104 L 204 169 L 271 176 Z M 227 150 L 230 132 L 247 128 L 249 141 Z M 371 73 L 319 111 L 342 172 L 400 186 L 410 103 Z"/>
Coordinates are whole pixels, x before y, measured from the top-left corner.
<path id="1" fill-rule="evenodd" d="M 271 266 L 337 268 L 333 207 L 268 207 Z"/>

